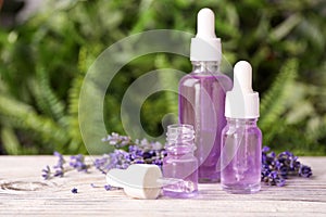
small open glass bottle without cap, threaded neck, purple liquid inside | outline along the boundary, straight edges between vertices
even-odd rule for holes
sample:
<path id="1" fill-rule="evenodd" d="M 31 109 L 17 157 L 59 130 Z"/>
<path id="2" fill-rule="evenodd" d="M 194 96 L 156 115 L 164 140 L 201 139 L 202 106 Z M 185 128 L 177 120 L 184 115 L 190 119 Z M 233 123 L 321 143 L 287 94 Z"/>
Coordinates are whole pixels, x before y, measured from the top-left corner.
<path id="1" fill-rule="evenodd" d="M 171 197 L 191 197 L 198 194 L 198 161 L 191 125 L 167 126 L 167 155 L 163 159 L 163 177 L 171 183 L 163 187 L 163 194 Z"/>

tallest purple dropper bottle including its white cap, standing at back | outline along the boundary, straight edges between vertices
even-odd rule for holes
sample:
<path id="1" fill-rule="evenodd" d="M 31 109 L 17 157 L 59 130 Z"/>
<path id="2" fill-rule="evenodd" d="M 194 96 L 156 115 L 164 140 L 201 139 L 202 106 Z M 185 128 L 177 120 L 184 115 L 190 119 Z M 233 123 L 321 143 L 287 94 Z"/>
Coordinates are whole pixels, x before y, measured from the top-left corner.
<path id="1" fill-rule="evenodd" d="M 217 182 L 221 132 L 226 125 L 225 94 L 233 82 L 220 72 L 222 46 L 215 36 L 213 11 L 200 10 L 197 25 L 190 47 L 192 72 L 179 82 L 179 122 L 195 127 L 199 182 Z"/>

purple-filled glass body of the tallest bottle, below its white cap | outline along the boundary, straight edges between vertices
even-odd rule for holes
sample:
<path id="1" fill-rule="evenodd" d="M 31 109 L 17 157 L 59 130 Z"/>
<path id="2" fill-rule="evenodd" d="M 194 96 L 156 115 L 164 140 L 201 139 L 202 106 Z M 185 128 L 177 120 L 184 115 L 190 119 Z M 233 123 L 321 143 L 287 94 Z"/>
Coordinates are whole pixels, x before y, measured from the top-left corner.
<path id="1" fill-rule="evenodd" d="M 192 62 L 193 72 L 179 84 L 179 122 L 195 127 L 199 182 L 217 182 L 221 132 L 226 125 L 225 93 L 229 77 L 217 72 L 218 62 Z"/>

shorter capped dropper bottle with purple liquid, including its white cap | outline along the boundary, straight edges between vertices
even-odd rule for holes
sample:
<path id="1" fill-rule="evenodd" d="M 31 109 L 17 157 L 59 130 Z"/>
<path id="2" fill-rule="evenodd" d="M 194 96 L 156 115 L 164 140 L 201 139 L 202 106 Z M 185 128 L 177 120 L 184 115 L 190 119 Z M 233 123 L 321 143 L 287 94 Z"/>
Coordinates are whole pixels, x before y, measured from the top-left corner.
<path id="1" fill-rule="evenodd" d="M 261 189 L 262 132 L 256 126 L 260 103 L 251 82 L 251 65 L 238 62 L 234 88 L 226 93 L 227 125 L 222 131 L 221 184 L 230 193 L 254 193 Z"/>

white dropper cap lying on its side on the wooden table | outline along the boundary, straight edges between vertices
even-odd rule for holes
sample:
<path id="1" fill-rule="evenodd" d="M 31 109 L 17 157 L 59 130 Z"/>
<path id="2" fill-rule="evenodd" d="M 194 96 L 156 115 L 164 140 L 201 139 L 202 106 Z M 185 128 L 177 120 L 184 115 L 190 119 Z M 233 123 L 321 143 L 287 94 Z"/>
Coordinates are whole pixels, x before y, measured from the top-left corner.
<path id="1" fill-rule="evenodd" d="M 133 164 L 127 169 L 111 169 L 106 174 L 110 186 L 123 188 L 135 199 L 156 199 L 161 192 L 158 180 L 162 171 L 156 165 Z"/>

